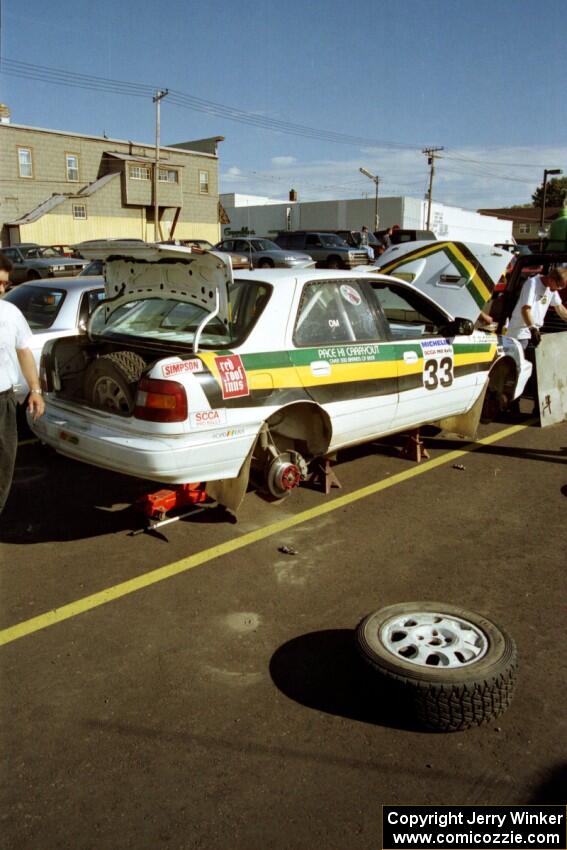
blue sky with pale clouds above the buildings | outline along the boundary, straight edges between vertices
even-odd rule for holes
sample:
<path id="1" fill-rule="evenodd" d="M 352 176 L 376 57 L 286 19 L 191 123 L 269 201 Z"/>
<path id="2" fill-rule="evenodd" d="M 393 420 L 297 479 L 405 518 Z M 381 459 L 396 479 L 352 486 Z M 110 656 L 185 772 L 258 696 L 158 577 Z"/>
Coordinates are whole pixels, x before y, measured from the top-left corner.
<path id="1" fill-rule="evenodd" d="M 168 89 L 162 144 L 224 136 L 221 192 L 374 197 L 364 167 L 421 198 L 426 147 L 434 200 L 466 209 L 567 175 L 564 0 L 0 4 L 13 123 L 153 144 Z"/>

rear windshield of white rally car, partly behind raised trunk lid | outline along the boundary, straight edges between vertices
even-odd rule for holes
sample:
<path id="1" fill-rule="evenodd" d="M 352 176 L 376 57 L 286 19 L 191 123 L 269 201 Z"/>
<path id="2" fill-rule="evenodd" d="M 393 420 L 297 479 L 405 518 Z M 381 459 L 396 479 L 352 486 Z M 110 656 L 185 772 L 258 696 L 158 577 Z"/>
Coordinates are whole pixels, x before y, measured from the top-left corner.
<path id="1" fill-rule="evenodd" d="M 229 285 L 231 321 L 225 326 L 220 319 L 206 325 L 199 345 L 219 348 L 243 340 L 254 325 L 271 294 L 263 283 L 235 281 Z M 154 342 L 190 345 L 197 328 L 208 311 L 199 304 L 175 298 L 142 298 L 119 306 L 105 323 L 105 310 L 98 309 L 91 323 L 91 334 L 102 337 L 136 337 Z"/>

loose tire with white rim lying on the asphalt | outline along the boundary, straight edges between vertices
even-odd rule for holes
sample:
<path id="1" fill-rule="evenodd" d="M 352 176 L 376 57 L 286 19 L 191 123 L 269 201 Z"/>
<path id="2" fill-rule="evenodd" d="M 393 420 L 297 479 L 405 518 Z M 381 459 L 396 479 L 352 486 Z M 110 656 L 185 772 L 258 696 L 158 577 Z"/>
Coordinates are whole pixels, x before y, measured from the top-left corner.
<path id="1" fill-rule="evenodd" d="M 512 700 L 512 638 L 480 614 L 444 602 L 405 602 L 356 629 L 363 659 L 422 728 L 457 732 L 488 723 Z"/>

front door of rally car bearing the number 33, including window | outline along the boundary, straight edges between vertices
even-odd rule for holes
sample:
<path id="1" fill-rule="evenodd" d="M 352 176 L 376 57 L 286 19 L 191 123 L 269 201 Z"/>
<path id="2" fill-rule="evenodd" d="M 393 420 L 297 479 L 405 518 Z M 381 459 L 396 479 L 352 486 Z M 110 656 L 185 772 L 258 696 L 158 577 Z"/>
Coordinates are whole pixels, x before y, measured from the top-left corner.
<path id="1" fill-rule="evenodd" d="M 447 335 L 449 319 L 413 287 L 395 280 L 372 284 L 388 324 L 398 369 L 396 427 L 463 413 L 482 389 L 496 337 Z"/>

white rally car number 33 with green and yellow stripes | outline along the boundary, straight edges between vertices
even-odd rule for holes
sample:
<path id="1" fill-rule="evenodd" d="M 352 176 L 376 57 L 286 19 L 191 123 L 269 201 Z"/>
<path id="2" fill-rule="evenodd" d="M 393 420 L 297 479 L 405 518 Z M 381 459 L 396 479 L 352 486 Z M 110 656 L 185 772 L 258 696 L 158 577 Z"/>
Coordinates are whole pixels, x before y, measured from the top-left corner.
<path id="1" fill-rule="evenodd" d="M 231 507 L 251 466 L 274 496 L 310 461 L 438 423 L 471 436 L 486 390 L 505 404 L 531 367 L 515 340 L 474 330 L 509 256 L 413 243 L 396 277 L 239 272 L 219 254 L 90 243 L 106 299 L 86 336 L 47 343 L 45 416 L 62 454 L 164 483 L 207 482 Z"/>

